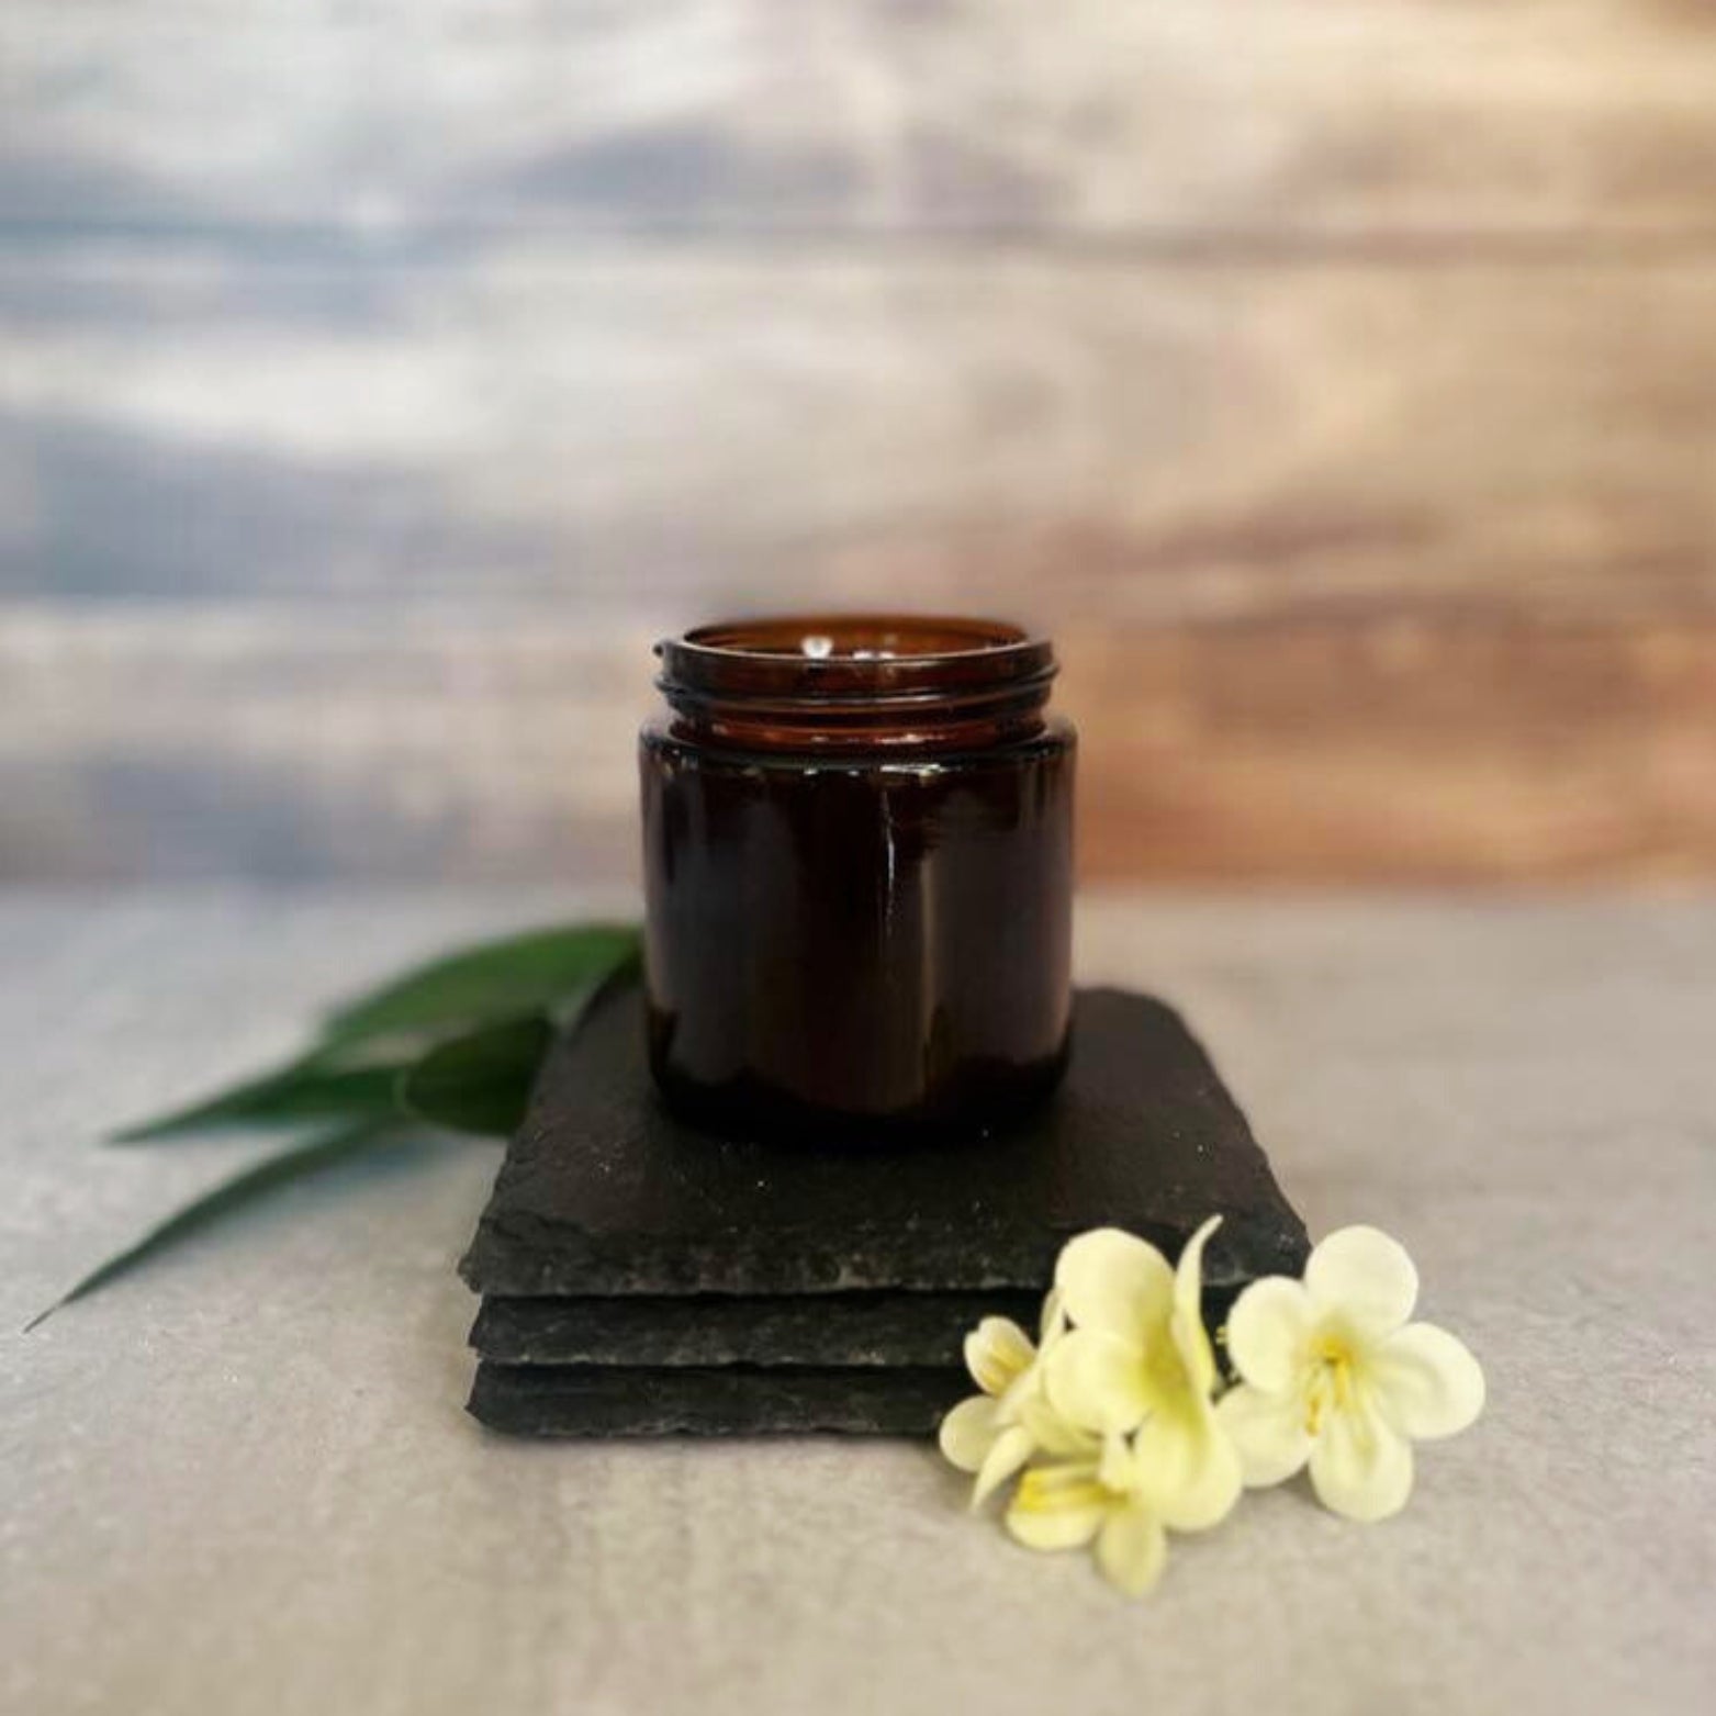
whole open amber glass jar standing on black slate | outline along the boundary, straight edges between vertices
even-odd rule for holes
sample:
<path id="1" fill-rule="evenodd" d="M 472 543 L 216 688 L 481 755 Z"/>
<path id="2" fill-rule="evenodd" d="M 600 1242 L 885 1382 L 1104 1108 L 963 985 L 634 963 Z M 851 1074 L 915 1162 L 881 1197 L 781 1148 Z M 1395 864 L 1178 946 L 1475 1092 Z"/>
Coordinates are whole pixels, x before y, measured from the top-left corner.
<path id="1" fill-rule="evenodd" d="M 1060 1076 L 1072 728 L 1050 645 L 815 616 L 657 645 L 645 726 L 650 1066 L 760 1129 L 985 1127 Z"/>

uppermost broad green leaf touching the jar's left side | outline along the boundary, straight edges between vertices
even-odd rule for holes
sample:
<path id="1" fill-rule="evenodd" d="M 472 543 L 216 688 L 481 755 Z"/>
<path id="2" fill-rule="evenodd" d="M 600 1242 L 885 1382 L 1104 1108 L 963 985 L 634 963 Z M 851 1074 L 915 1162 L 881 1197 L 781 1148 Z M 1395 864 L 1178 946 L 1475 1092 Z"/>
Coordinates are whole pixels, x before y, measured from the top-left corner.
<path id="1" fill-rule="evenodd" d="M 468 947 L 338 1009 L 323 1026 L 324 1050 L 527 1012 L 558 1018 L 635 961 L 638 947 L 638 930 L 628 923 L 532 930 Z"/>

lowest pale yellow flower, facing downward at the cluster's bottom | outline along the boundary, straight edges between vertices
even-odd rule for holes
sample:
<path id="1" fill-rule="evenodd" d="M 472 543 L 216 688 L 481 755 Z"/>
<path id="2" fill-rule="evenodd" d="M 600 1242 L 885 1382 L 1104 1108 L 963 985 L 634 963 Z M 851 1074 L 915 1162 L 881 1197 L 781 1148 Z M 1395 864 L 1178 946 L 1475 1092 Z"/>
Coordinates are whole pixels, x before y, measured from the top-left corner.
<path id="1" fill-rule="evenodd" d="M 1076 1550 L 1095 1539 L 1097 1565 L 1127 1596 L 1143 1596 L 1162 1577 L 1167 1532 L 1121 1436 L 1098 1436 L 1059 1419 L 1042 1402 L 1038 1448 L 1054 1455 L 1033 1465 L 1007 1507 L 1007 1531 L 1031 1550 Z"/>

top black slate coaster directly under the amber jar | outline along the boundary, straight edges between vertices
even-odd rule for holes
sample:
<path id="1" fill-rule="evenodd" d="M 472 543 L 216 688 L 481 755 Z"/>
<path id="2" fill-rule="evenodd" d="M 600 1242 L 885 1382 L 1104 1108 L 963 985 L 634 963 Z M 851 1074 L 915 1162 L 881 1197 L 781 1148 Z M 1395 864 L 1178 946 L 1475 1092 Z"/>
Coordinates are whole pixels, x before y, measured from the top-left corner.
<path id="1" fill-rule="evenodd" d="M 1085 990 L 1072 1042 L 1057 1095 L 995 1136 L 722 1138 L 668 1112 L 614 988 L 551 1052 L 462 1273 L 503 1297 L 1042 1292 L 1071 1234 L 1174 1256 L 1217 1211 L 1211 1296 L 1297 1273 L 1304 1225 L 1179 1014 Z"/>

